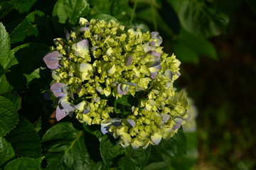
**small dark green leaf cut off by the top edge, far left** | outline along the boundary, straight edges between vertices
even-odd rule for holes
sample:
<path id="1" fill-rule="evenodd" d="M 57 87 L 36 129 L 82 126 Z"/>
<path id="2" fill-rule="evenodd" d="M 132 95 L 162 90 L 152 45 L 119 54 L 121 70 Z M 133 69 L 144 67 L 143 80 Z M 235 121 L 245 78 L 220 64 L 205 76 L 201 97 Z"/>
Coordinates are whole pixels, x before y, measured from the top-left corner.
<path id="1" fill-rule="evenodd" d="M 19 13 L 28 12 L 36 0 L 11 0 L 11 4 Z"/>

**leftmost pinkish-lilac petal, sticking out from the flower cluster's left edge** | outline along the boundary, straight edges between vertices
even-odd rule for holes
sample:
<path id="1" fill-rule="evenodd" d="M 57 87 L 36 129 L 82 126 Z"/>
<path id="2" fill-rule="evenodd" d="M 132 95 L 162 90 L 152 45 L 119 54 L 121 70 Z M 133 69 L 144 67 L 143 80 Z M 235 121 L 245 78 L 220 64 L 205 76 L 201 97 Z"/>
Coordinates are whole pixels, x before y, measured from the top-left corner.
<path id="1" fill-rule="evenodd" d="M 43 61 L 46 62 L 49 69 L 58 69 L 60 68 L 60 57 L 63 57 L 63 55 L 61 55 L 58 51 L 54 51 L 43 57 Z"/>

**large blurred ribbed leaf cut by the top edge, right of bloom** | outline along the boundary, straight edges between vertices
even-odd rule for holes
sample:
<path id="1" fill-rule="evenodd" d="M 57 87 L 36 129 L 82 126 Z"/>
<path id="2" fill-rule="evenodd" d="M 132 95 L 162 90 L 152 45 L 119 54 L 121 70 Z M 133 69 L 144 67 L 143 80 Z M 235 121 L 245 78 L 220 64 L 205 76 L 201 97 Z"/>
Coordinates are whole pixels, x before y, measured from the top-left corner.
<path id="1" fill-rule="evenodd" d="M 213 10 L 201 0 L 169 0 L 174 6 L 183 28 L 189 33 L 213 37 L 225 33 L 229 18 Z"/>

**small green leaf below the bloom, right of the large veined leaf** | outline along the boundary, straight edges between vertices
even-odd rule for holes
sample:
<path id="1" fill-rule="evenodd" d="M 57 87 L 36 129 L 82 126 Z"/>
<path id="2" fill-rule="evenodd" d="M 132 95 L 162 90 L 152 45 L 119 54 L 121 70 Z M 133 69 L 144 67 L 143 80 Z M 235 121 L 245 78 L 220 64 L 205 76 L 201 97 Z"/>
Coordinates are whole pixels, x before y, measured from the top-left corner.
<path id="1" fill-rule="evenodd" d="M 104 135 L 100 141 L 100 154 L 105 164 L 110 167 L 113 164 L 114 158 L 120 154 L 124 154 L 124 147 L 121 145 L 114 145 L 109 137 Z"/>

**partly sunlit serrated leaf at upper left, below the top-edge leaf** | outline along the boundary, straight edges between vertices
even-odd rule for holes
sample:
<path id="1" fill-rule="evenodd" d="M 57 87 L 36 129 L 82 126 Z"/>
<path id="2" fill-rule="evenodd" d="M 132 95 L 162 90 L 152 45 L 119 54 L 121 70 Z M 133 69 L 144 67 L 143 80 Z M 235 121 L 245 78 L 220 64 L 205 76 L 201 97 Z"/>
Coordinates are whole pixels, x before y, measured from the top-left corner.
<path id="1" fill-rule="evenodd" d="M 36 28 L 36 25 L 33 25 L 33 22 L 36 20 L 36 17 L 42 16 L 44 16 L 44 13 L 41 11 L 29 13 L 28 16 L 10 34 L 11 44 L 21 42 L 31 35 L 38 35 L 38 29 Z"/>

